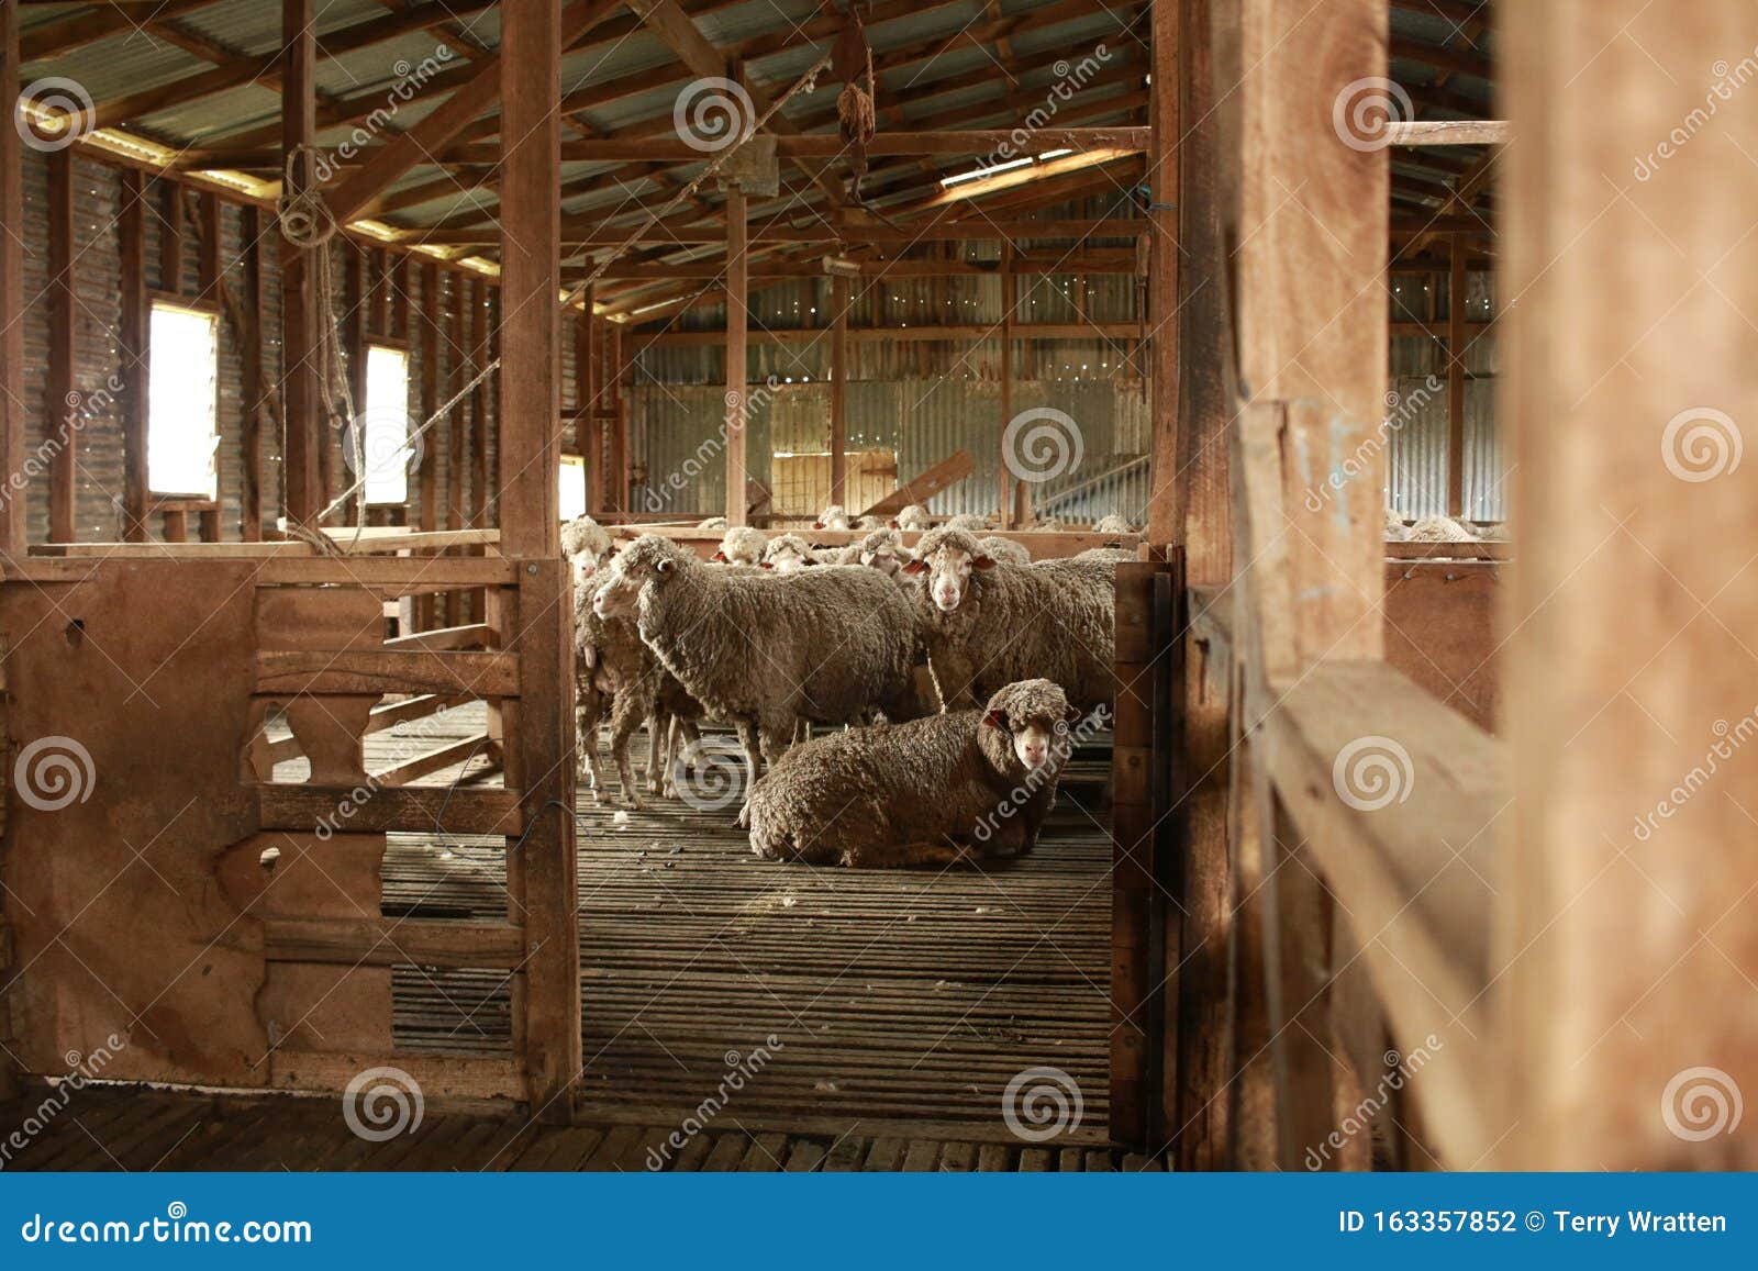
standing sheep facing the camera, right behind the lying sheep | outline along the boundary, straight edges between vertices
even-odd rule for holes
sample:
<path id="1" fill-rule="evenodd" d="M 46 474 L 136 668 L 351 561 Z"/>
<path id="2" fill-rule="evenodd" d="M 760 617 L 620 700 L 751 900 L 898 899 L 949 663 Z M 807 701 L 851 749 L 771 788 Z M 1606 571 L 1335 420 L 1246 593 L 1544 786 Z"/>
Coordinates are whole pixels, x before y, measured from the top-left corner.
<path id="1" fill-rule="evenodd" d="M 1115 700 L 1115 563 L 1000 564 L 951 526 L 923 534 L 916 552 L 904 571 L 916 577 L 918 624 L 948 707 L 1039 677 L 1079 707 Z"/>

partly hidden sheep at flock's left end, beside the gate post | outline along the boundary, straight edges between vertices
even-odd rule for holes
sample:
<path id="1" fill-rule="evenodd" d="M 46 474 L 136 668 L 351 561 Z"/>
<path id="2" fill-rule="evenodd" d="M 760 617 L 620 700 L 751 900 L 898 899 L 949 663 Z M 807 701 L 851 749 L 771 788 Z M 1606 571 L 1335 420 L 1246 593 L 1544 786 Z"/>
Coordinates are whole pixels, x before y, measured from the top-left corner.
<path id="1" fill-rule="evenodd" d="M 694 742 L 700 737 L 696 721 L 703 712 L 642 643 L 631 619 L 601 617 L 596 612 L 596 592 L 605 582 L 577 591 L 573 598 L 575 749 L 580 775 L 591 781 L 592 800 L 603 802 L 598 726 L 608 715 L 610 758 L 617 765 L 622 796 L 635 810 L 642 810 L 640 788 L 629 765 L 629 738 L 635 730 L 647 724 L 647 789 L 668 791 L 672 751 L 679 738 Z"/>

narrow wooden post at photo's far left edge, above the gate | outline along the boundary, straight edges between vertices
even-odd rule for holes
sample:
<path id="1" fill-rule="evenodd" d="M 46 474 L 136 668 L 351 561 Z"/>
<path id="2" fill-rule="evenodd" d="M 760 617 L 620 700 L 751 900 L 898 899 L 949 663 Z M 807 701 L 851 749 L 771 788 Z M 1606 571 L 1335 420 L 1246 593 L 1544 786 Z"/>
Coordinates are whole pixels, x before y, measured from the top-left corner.
<path id="1" fill-rule="evenodd" d="M 18 5 L 0 5 L 0 102 L 18 100 Z M 12 121 L 7 120 L 11 125 Z M 25 139 L 0 128 L 0 222 L 25 223 Z M 5 480 L 25 473 L 25 243 L 0 234 L 0 464 Z M 21 557 L 28 536 L 26 501 L 11 490 L 0 510 L 0 554 Z"/>

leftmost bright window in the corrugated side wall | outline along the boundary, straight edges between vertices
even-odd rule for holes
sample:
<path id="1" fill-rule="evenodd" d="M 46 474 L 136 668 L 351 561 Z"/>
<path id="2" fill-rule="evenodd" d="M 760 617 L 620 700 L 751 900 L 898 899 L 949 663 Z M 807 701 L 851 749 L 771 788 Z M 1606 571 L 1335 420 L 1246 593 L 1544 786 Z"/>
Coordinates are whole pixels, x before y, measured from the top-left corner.
<path id="1" fill-rule="evenodd" d="M 220 320 L 153 302 L 148 334 L 146 483 L 153 494 L 211 499 L 220 448 Z"/>

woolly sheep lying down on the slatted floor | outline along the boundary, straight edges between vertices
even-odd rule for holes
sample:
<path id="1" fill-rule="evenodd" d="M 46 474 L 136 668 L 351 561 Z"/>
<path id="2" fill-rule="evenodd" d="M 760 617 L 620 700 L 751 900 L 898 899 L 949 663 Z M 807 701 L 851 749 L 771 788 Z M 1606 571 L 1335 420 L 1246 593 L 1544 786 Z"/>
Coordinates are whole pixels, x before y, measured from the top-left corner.
<path id="1" fill-rule="evenodd" d="M 1027 853 L 1057 800 L 1078 717 L 1050 680 L 1021 680 L 984 710 L 798 745 L 751 789 L 751 851 L 854 868 Z"/>

